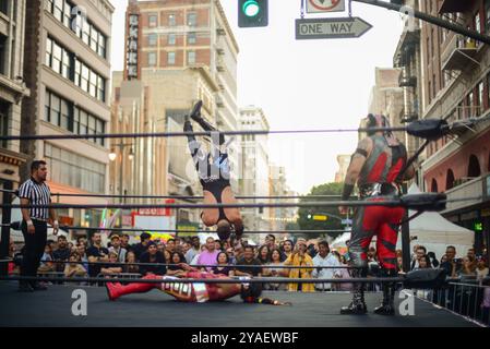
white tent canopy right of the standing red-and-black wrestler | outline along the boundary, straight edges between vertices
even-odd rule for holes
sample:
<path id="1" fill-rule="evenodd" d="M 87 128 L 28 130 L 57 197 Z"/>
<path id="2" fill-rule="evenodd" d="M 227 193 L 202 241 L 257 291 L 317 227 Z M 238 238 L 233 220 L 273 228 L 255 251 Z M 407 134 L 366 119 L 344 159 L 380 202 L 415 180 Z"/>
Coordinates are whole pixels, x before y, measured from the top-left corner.
<path id="1" fill-rule="evenodd" d="M 420 190 L 414 183 L 408 189 L 408 194 L 417 193 L 420 193 Z M 410 216 L 414 214 L 415 212 L 409 212 Z M 426 212 L 410 220 L 409 225 L 410 237 L 417 237 L 417 240 L 410 242 L 410 251 L 414 245 L 421 244 L 427 252 L 434 252 L 440 260 L 447 245 L 454 245 L 457 255 L 466 254 L 466 251 L 473 248 L 475 233 L 451 222 L 437 212 Z M 401 248 L 401 237 L 398 238 L 398 248 Z"/>

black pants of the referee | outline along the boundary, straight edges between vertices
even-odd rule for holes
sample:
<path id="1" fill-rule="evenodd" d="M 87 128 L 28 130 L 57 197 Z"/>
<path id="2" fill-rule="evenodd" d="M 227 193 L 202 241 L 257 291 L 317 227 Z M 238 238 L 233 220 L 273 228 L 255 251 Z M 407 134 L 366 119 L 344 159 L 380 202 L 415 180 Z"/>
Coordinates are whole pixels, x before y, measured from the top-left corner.
<path id="1" fill-rule="evenodd" d="M 36 276 L 40 258 L 45 252 L 48 238 L 48 225 L 46 221 L 32 219 L 34 233 L 27 232 L 27 224 L 23 220 L 21 228 L 24 236 L 24 254 L 22 256 L 21 276 Z M 34 284 L 32 281 L 31 284 Z"/>

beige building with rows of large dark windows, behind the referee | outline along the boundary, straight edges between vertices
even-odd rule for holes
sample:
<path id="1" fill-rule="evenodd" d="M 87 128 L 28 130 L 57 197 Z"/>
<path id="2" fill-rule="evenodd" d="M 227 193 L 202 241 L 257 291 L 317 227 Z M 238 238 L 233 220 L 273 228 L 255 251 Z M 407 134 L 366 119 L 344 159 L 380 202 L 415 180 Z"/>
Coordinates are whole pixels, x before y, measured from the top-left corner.
<path id="1" fill-rule="evenodd" d="M 110 130 L 108 0 L 29 0 L 24 80 L 31 91 L 22 108 L 21 134 L 98 134 Z M 101 139 L 23 141 L 28 160 L 48 163 L 52 193 L 108 192 L 108 142 Z M 25 166 L 22 178 L 28 177 Z M 97 198 L 53 202 L 96 204 Z M 99 210 L 60 209 L 62 224 L 98 226 Z"/>

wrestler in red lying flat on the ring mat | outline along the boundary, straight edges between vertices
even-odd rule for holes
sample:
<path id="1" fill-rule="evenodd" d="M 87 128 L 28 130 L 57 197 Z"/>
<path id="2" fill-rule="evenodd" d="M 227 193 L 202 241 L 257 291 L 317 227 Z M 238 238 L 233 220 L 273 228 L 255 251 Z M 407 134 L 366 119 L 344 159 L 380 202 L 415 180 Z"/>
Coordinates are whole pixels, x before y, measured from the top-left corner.
<path id="1" fill-rule="evenodd" d="M 183 278 L 196 278 L 196 279 L 224 279 L 230 280 L 231 278 L 225 275 L 211 274 L 207 272 L 200 272 L 187 264 L 180 265 L 186 270 L 179 274 Z M 288 302 L 280 302 L 268 298 L 261 298 L 262 285 L 261 284 L 205 284 L 205 282 L 165 282 L 165 280 L 175 280 L 178 277 L 172 276 L 158 276 L 147 275 L 143 279 L 160 279 L 159 284 L 143 284 L 132 282 L 129 285 L 107 282 L 107 293 L 111 301 L 117 300 L 119 297 L 131 293 L 145 293 L 153 289 L 158 289 L 167 294 L 175 297 L 181 302 L 215 302 L 224 301 L 240 294 L 241 299 L 246 303 L 261 303 L 271 305 L 290 305 Z"/>

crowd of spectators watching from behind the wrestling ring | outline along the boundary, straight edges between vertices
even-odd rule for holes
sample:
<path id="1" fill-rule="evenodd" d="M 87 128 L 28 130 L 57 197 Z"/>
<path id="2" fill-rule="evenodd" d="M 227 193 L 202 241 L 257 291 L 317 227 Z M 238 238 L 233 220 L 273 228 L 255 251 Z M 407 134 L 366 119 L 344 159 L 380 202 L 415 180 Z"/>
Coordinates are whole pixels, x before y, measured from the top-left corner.
<path id="1" fill-rule="evenodd" d="M 410 269 L 443 268 L 447 275 L 463 280 L 481 280 L 488 276 L 487 261 L 469 249 L 463 257 L 456 257 L 456 249 L 447 246 L 440 260 L 423 245 L 415 245 Z M 379 276 L 380 265 L 377 251 L 370 248 L 367 253 L 369 276 Z M 397 251 L 398 272 L 403 272 L 402 251 Z M 55 263 L 58 262 L 58 263 Z M 59 263 L 63 262 L 63 263 Z M 94 263 L 96 262 L 96 263 Z M 122 264 L 121 264 L 122 263 Z M 133 276 L 183 275 L 182 263 L 202 265 L 203 270 L 226 276 L 246 277 L 289 277 L 301 278 L 349 278 L 348 252 L 340 254 L 330 249 L 326 241 L 307 241 L 298 238 L 276 241 L 268 234 L 262 245 L 250 245 L 247 240 L 219 241 L 210 237 L 201 244 L 199 237 L 186 237 L 163 241 L 152 241 L 150 233 L 142 233 L 140 242 L 130 244 L 126 233 L 110 236 L 103 244 L 100 232 L 92 234 L 89 241 L 80 237 L 75 243 L 59 236 L 57 241 L 49 240 L 45 248 L 39 274 L 58 273 L 65 277 L 101 277 L 121 274 Z M 291 266 L 284 268 L 283 266 Z M 327 268 L 324 268 L 327 267 Z M 301 292 L 348 291 L 350 284 L 309 284 L 270 282 L 267 290 L 289 290 Z"/>

